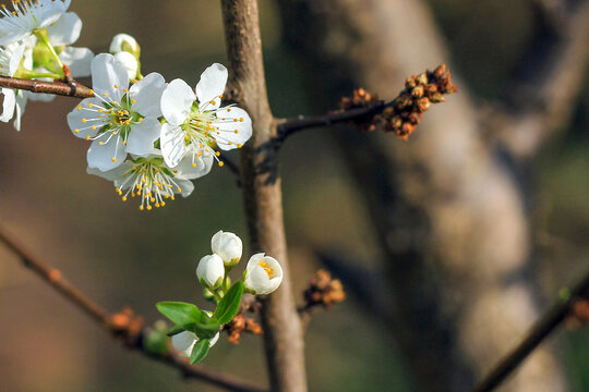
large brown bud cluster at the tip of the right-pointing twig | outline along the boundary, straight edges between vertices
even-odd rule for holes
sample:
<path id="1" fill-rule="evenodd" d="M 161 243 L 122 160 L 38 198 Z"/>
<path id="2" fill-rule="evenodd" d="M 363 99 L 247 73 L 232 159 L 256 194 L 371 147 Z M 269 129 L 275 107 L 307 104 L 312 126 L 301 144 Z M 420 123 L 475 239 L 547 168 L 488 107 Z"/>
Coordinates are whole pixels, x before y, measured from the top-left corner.
<path id="1" fill-rule="evenodd" d="M 381 114 L 384 131 L 395 132 L 400 138 L 407 139 L 431 103 L 444 102 L 445 94 L 457 90 L 452 83 L 452 73 L 446 72 L 446 64 L 437 66 L 433 72 L 425 71 L 408 77 L 405 89 Z"/>

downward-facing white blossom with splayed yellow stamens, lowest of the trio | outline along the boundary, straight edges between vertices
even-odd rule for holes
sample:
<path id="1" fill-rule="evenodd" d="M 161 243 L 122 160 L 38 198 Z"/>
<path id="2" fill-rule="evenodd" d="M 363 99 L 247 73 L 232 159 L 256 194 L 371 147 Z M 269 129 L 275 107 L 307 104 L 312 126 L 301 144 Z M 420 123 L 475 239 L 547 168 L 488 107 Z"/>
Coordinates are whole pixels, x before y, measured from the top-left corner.
<path id="1" fill-rule="evenodd" d="M 202 157 L 199 166 L 193 168 L 190 160 L 184 160 L 176 168 L 166 166 L 160 155 L 133 157 L 117 168 L 103 172 L 88 168 L 89 174 L 95 174 L 115 182 L 116 192 L 123 201 L 129 197 L 141 199 L 140 210 L 152 210 L 166 205 L 167 199 L 175 195 L 189 196 L 194 191 L 190 180 L 207 174 L 213 167 L 213 157 Z"/>

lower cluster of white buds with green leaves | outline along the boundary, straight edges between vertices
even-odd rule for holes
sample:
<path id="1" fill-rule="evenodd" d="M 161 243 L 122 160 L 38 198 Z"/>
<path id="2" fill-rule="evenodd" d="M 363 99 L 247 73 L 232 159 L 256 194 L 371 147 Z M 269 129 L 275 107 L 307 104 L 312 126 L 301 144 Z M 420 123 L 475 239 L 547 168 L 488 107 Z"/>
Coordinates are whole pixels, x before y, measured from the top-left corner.
<path id="1" fill-rule="evenodd" d="M 253 255 L 243 272 L 243 281 L 231 285 L 228 272 L 241 259 L 243 245 L 233 233 L 219 231 L 211 240 L 213 253 L 196 267 L 196 278 L 206 299 L 217 305 L 215 311 L 200 310 L 195 305 L 160 302 L 158 310 L 175 322 L 168 332 L 173 347 L 195 364 L 201 362 L 219 339 L 219 330 L 238 315 L 244 292 L 271 294 L 283 281 L 283 268 L 273 257 Z M 238 338 L 239 339 L 239 338 Z"/>

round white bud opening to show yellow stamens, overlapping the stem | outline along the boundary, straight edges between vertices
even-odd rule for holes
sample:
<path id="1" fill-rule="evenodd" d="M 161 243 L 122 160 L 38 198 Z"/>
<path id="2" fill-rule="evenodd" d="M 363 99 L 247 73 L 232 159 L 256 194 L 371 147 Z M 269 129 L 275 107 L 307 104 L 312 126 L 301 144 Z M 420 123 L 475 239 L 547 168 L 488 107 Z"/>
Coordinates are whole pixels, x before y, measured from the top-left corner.
<path id="1" fill-rule="evenodd" d="M 243 275 L 247 290 L 254 294 L 269 294 L 283 282 L 283 268 L 274 257 L 260 253 L 250 258 Z"/>

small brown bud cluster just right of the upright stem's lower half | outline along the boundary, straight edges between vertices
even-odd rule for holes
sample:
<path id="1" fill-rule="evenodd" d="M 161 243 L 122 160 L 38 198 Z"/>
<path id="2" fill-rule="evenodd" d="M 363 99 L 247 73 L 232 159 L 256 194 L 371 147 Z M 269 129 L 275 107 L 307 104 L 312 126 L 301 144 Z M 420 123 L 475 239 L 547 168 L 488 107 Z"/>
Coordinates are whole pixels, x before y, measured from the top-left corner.
<path id="1" fill-rule="evenodd" d="M 304 291 L 305 308 L 323 306 L 330 309 L 335 304 L 346 299 L 346 292 L 338 279 L 332 279 L 332 274 L 326 270 L 318 270 Z"/>

